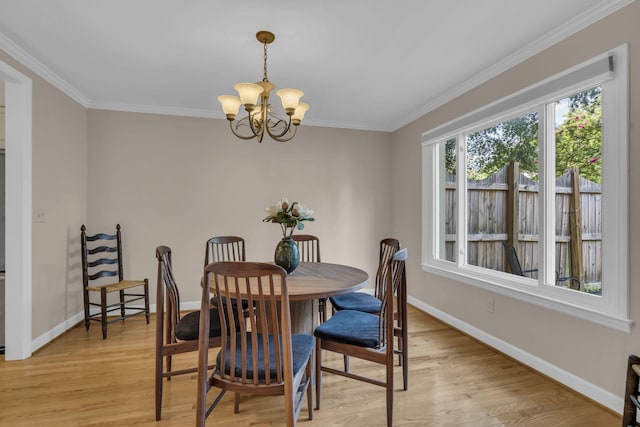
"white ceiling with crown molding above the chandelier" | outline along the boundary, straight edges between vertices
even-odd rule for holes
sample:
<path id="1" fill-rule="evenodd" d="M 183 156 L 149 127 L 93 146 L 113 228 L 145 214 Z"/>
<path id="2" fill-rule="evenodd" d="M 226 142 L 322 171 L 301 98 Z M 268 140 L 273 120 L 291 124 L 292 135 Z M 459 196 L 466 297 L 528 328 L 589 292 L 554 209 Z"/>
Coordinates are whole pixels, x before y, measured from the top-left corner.
<path id="1" fill-rule="evenodd" d="M 87 108 L 224 118 L 269 30 L 303 125 L 392 131 L 631 1 L 0 0 L 0 49 Z"/>

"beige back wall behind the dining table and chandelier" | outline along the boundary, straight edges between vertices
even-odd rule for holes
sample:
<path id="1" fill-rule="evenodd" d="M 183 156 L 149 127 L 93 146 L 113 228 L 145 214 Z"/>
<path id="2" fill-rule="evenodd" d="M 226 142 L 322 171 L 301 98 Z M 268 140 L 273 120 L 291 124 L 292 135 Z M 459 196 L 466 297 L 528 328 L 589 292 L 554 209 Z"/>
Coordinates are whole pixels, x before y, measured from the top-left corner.
<path id="1" fill-rule="evenodd" d="M 281 238 L 265 208 L 307 203 L 322 259 L 375 274 L 391 231 L 390 135 L 302 126 L 290 143 L 243 142 L 225 120 L 89 111 L 89 226 L 125 239 L 128 276 L 156 281 L 155 248 L 173 249 L 183 302 L 197 302 L 204 244 L 239 235 L 250 260 L 271 261 Z"/>

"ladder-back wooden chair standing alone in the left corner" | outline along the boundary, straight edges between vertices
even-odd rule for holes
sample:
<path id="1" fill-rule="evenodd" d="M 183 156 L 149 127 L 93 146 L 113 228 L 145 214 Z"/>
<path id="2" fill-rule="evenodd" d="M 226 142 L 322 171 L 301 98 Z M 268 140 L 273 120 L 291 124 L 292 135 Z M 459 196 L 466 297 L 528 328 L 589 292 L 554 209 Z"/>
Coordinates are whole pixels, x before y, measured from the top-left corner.
<path id="1" fill-rule="evenodd" d="M 87 331 L 91 321 L 100 322 L 102 339 L 106 339 L 107 324 L 141 313 L 145 313 L 149 323 L 149 281 L 148 279 L 124 279 L 120 224 L 116 225 L 115 234 L 87 235 L 84 224 L 80 227 L 80 232 L 84 326 Z M 113 279 L 113 277 L 117 278 Z M 132 288 L 141 288 L 141 290 L 133 291 Z M 90 293 L 92 292 L 100 295 L 100 303 L 91 301 Z M 112 292 L 118 292 L 118 302 L 108 302 L 107 297 Z M 136 301 L 144 302 L 144 306 L 131 305 Z M 100 307 L 100 311 L 91 313 L 91 307 Z M 114 311 L 118 311 L 119 315 L 107 319 L 107 314 Z"/>

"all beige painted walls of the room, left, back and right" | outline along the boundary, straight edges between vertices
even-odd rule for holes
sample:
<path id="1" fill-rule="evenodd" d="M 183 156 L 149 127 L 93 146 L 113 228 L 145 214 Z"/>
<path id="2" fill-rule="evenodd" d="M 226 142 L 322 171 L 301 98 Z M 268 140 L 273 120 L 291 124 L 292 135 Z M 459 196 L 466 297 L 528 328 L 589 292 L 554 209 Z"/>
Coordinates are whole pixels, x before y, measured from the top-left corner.
<path id="1" fill-rule="evenodd" d="M 303 126 L 294 142 L 242 143 L 225 121 L 89 110 L 0 52 L 33 81 L 33 337 L 82 310 L 79 227 L 125 233 L 125 268 L 155 286 L 154 249 L 174 251 L 183 300 L 199 297 L 207 237 L 240 234 L 248 257 L 268 261 L 279 227 L 264 208 L 282 196 L 308 203 L 323 259 L 375 273 L 377 244 L 409 248 L 410 294 L 474 327 L 620 395 L 624 360 L 640 351 L 637 327 L 614 331 L 420 268 L 424 131 L 623 42 L 631 45 L 630 209 L 640 208 L 640 3 L 605 18 L 392 135 Z M 87 163 L 91 165 L 87 169 Z M 640 320 L 640 226 L 630 225 L 631 317 Z M 487 298 L 495 313 L 486 312 Z"/>

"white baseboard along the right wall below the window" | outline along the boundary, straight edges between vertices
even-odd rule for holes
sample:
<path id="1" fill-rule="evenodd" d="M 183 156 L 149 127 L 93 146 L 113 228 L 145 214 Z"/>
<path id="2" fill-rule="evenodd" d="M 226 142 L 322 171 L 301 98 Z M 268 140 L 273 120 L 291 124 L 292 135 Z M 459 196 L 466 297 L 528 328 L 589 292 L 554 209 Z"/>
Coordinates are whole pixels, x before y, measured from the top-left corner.
<path id="1" fill-rule="evenodd" d="M 596 386 L 595 384 L 585 381 L 584 379 L 570 372 L 567 372 L 564 369 L 561 369 L 558 366 L 547 362 L 546 360 L 534 356 L 533 354 L 530 354 L 506 341 L 496 338 L 493 335 L 490 335 L 473 325 L 470 325 L 456 317 L 438 310 L 435 307 L 425 304 L 424 302 L 416 298 L 409 296 L 407 298 L 407 301 L 411 305 L 419 308 L 425 313 L 428 313 L 433 317 L 453 326 L 454 328 L 459 329 L 465 334 L 470 335 L 479 341 L 482 341 L 488 346 L 493 347 L 496 350 L 508 355 L 509 357 L 512 357 L 517 361 L 529 366 L 530 368 L 543 373 L 544 375 L 558 381 L 561 384 L 564 384 L 572 390 L 585 395 L 586 397 L 598 402 L 599 404 L 611 409 L 612 411 L 622 414 L 624 400 L 621 396 L 617 396 L 601 387 Z"/>

